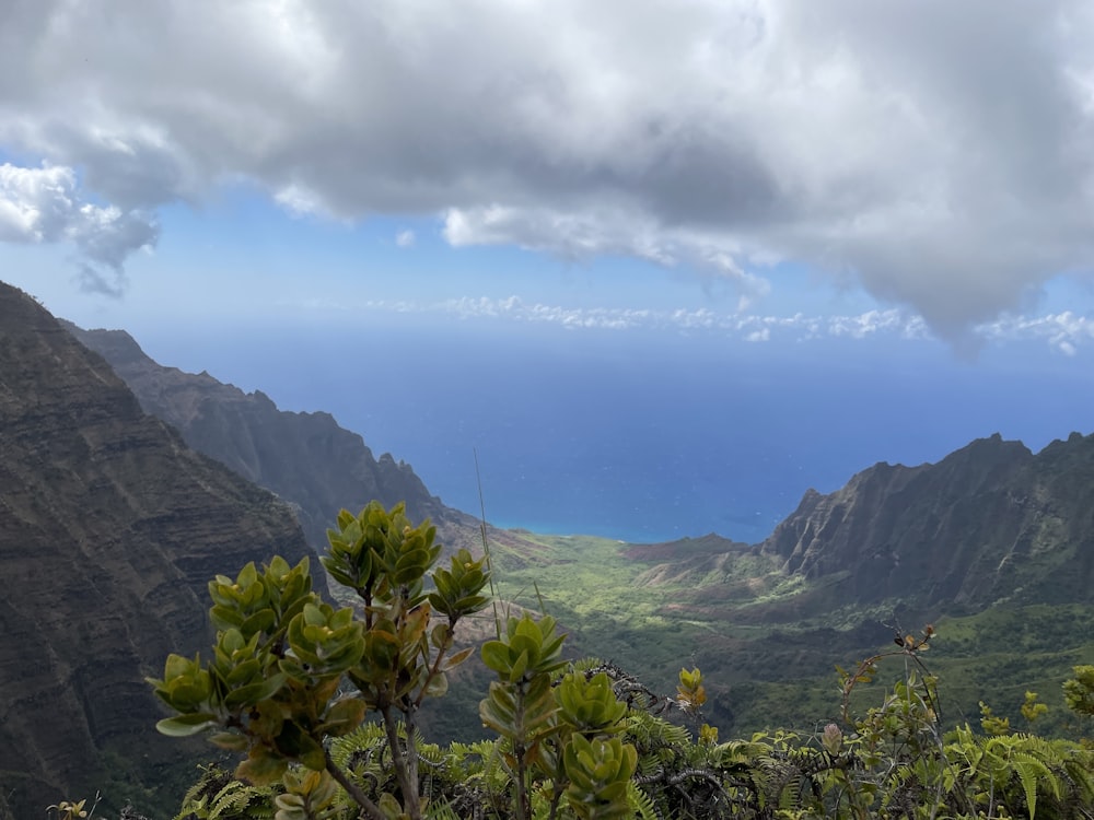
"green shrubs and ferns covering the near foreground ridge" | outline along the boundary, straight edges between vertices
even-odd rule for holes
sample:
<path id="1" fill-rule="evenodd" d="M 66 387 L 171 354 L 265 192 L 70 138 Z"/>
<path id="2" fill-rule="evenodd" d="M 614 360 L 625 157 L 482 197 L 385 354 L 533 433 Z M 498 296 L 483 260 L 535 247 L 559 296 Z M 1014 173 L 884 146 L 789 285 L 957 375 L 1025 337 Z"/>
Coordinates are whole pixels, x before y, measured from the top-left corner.
<path id="1" fill-rule="evenodd" d="M 982 733 L 944 718 L 922 658 L 932 626 L 840 670 L 838 702 L 816 713 L 833 719 L 720 742 L 699 668 L 677 666 L 675 692 L 659 696 L 614 664 L 567 660 L 554 618 L 499 616 L 479 652 L 493 680 L 478 715 L 493 739 L 427 742 L 418 710 L 446 694 L 450 670 L 470 654 L 454 651 L 454 634 L 489 604 L 486 559 L 462 550 L 434 569 L 432 528 L 411 527 L 401 506 L 344 512 L 329 536 L 324 565 L 357 608 L 319 600 L 306 561 L 249 564 L 210 583 L 212 659 L 172 655 L 150 681 L 177 713 L 161 731 L 207 733 L 246 753 L 234 774 L 205 768 L 177 820 L 1094 817 L 1087 741 L 1016 733 L 986 704 Z M 608 543 L 593 548 L 603 555 Z M 638 595 L 620 598 L 629 618 L 660 617 Z M 1094 667 L 1071 673 L 1067 703 L 1087 721 Z M 882 677 L 891 682 L 878 692 Z M 1029 724 L 1054 711 L 1029 690 L 1019 703 Z"/>

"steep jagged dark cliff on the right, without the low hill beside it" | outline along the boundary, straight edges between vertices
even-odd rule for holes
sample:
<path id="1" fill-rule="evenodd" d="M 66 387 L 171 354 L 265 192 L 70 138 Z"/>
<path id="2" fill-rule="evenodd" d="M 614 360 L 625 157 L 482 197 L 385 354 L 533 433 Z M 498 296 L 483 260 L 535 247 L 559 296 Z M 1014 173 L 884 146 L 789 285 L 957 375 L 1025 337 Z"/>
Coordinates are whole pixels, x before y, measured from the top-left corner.
<path id="1" fill-rule="evenodd" d="M 994 435 L 936 465 L 878 464 L 830 495 L 810 491 L 760 549 L 787 572 L 833 579 L 829 604 L 954 612 L 1011 596 L 1089 600 L 1092 527 L 1094 436 L 1033 455 Z"/>

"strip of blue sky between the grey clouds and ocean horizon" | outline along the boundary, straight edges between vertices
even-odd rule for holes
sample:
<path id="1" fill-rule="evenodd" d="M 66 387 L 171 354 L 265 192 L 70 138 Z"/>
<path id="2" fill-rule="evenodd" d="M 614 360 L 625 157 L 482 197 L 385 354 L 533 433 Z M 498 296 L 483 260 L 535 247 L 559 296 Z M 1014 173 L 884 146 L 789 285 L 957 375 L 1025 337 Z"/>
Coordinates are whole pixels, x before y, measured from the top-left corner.
<path id="1" fill-rule="evenodd" d="M 715 332 L 756 355 L 772 339 L 951 343 L 913 306 L 877 298 L 853 280 L 833 281 L 805 262 L 765 267 L 767 290 L 743 296 L 689 266 L 616 254 L 569 259 L 520 245 L 454 247 L 438 216 L 299 214 L 242 186 L 196 206 L 164 206 L 155 221 L 155 246 L 126 259 L 119 293 L 81 286 L 71 243 L 0 244 L 0 261 L 7 281 L 57 315 L 133 332 L 190 323 L 313 327 L 358 311 L 407 326 L 443 316 L 620 333 Z M 1046 353 L 1071 358 L 1094 333 L 1085 321 L 1092 301 L 1089 278 L 1050 278 L 1025 297 L 1031 309 L 962 328 L 954 354 L 975 361 L 982 345 L 1040 341 Z"/>

